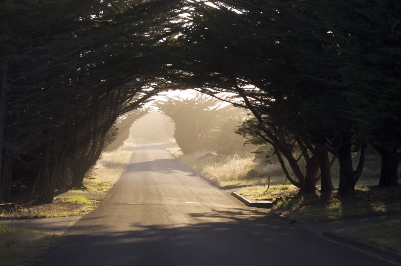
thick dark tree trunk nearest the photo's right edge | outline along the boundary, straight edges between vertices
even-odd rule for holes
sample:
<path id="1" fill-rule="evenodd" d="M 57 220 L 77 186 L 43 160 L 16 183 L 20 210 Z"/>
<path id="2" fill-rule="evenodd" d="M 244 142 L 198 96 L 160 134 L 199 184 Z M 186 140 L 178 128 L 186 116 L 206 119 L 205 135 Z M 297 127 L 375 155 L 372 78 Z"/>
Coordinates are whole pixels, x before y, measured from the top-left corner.
<path id="1" fill-rule="evenodd" d="M 382 157 L 382 168 L 380 170 L 380 181 L 378 186 L 396 187 L 398 186 L 398 164 L 399 158 L 397 149 L 377 149 Z"/>

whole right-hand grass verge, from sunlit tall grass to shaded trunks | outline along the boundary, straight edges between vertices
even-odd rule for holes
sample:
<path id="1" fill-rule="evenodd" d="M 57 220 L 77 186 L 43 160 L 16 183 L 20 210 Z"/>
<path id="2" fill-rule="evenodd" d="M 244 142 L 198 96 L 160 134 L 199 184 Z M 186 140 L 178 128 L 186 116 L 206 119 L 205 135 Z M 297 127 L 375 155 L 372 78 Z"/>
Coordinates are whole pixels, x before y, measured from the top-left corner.
<path id="1" fill-rule="evenodd" d="M 290 184 L 282 174 L 280 165 L 261 166 L 253 156 L 222 156 L 212 152 L 184 155 L 179 149 L 170 152 L 196 172 L 215 181 L 225 189 L 240 188 L 236 192 L 249 200 L 276 201 L 276 213 L 300 222 L 330 222 L 351 217 L 366 217 L 389 212 L 401 212 L 401 188 L 377 188 L 378 180 L 365 173 L 357 184 L 356 195 L 339 199 L 331 194 L 298 195 L 299 189 Z M 249 177 L 251 170 L 257 175 Z M 336 172 L 333 169 L 333 172 Z M 338 171 L 337 171 L 338 172 Z M 268 176 L 271 187 L 267 189 Z M 338 178 L 333 177 L 333 185 Z M 317 184 L 320 188 L 320 184 Z"/>

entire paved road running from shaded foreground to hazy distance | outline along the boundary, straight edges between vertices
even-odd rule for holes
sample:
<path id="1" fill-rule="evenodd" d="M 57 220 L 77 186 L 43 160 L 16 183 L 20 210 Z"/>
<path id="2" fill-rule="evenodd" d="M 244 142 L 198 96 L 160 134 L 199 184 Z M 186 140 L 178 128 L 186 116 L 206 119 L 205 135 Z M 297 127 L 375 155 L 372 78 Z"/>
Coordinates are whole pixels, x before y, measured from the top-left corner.
<path id="1" fill-rule="evenodd" d="M 161 145 L 143 144 L 110 197 L 36 265 L 390 264 L 252 211 Z"/>

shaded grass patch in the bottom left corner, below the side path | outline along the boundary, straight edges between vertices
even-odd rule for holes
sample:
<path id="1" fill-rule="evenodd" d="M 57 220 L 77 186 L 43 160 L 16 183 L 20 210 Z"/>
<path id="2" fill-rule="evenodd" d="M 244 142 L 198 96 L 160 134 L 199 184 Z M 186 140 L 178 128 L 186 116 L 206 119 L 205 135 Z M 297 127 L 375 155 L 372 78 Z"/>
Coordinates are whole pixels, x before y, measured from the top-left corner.
<path id="1" fill-rule="evenodd" d="M 0 223 L 0 265 L 22 266 L 57 240 L 56 236 L 31 228 Z"/>

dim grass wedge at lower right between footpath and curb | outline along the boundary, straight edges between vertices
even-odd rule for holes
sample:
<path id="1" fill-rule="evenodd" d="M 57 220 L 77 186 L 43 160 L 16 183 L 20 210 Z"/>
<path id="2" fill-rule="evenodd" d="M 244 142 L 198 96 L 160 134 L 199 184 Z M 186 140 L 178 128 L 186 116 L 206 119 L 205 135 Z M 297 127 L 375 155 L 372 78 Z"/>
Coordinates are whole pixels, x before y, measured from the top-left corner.
<path id="1" fill-rule="evenodd" d="M 401 221 L 347 228 L 338 230 L 337 233 L 344 237 L 401 253 Z"/>

